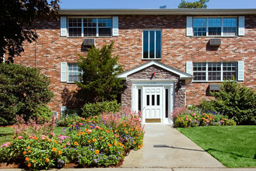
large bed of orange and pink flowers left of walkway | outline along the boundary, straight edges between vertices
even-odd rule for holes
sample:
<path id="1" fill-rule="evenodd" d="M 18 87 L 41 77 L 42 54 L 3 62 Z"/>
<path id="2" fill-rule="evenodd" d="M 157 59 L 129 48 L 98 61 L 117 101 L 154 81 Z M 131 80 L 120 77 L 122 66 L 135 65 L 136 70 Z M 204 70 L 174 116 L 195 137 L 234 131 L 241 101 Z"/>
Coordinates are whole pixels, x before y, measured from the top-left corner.
<path id="1" fill-rule="evenodd" d="M 66 163 L 116 166 L 131 149 L 142 148 L 144 127 L 140 119 L 140 114 L 126 111 L 87 120 L 77 117 L 62 135 L 19 130 L 23 134 L 16 134 L 12 143 L 0 148 L 0 162 L 19 161 L 21 167 L 30 169 L 61 168 Z"/>

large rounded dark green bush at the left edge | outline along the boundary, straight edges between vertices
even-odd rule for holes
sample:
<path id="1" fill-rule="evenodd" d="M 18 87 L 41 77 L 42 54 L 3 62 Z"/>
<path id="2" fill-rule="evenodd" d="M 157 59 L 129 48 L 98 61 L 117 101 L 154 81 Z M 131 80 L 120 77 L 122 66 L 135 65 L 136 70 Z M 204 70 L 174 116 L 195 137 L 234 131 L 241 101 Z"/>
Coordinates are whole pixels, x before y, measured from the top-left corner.
<path id="1" fill-rule="evenodd" d="M 0 124 L 12 124 L 16 115 L 34 117 L 54 96 L 49 85 L 37 68 L 0 64 Z"/>

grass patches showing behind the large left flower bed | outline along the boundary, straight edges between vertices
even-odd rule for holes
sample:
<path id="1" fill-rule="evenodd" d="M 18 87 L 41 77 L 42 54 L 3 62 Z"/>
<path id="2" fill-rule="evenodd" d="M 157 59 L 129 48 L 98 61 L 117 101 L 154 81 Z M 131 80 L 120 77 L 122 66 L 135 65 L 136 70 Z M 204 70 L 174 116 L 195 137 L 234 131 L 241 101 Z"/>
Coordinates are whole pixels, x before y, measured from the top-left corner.
<path id="1" fill-rule="evenodd" d="M 55 127 L 54 133 L 62 134 L 62 129 L 63 129 L 63 127 Z M 13 133 L 12 127 L 0 127 L 0 146 L 3 143 L 12 141 L 12 136 L 13 136 L 12 133 Z"/>

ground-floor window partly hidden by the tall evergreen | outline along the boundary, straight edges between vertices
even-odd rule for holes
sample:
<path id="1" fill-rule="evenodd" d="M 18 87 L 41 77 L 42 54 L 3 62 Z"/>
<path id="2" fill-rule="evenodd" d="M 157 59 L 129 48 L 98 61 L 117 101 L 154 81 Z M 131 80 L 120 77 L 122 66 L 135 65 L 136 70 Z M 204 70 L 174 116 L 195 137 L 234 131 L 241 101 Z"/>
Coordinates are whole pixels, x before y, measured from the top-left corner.
<path id="1" fill-rule="evenodd" d="M 68 82 L 79 82 L 80 73 L 77 63 L 68 63 Z"/>

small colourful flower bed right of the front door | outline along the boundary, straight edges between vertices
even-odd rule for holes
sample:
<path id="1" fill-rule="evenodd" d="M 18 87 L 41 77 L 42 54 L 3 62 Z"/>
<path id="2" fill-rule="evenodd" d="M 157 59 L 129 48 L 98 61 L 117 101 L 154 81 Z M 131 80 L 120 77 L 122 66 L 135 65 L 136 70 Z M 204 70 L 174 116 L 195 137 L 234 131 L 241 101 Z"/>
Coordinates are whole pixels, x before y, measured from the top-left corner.
<path id="1" fill-rule="evenodd" d="M 227 126 L 236 125 L 235 121 L 227 116 L 212 113 L 196 113 L 187 111 L 174 120 L 175 127 L 198 127 L 198 126 Z"/>

